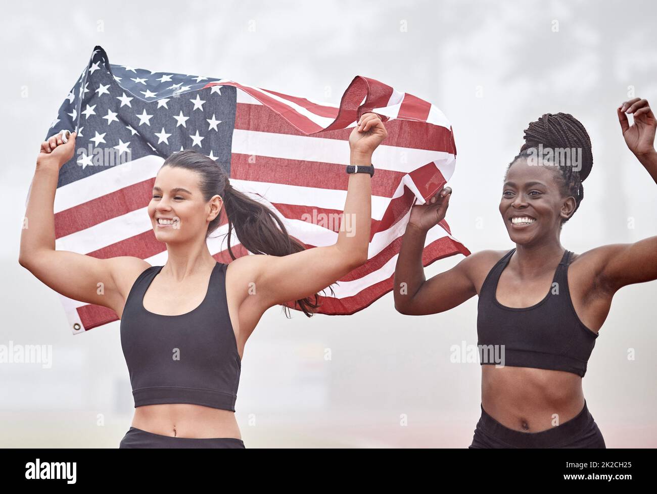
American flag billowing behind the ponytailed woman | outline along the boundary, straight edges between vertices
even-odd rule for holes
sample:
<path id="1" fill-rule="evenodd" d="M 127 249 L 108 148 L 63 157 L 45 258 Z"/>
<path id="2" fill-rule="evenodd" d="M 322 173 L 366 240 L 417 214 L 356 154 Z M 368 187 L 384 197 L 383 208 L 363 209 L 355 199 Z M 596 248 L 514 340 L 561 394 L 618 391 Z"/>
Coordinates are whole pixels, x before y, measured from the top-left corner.
<path id="1" fill-rule="evenodd" d="M 348 139 L 366 112 L 382 116 L 388 131 L 373 156 L 369 259 L 331 286 L 334 295 L 319 293 L 319 313 L 360 311 L 392 290 L 411 206 L 442 189 L 456 158 L 451 125 L 436 106 L 362 76 L 336 106 L 230 79 L 110 64 L 96 46 L 46 135 L 78 132 L 55 194 L 55 248 L 164 265 L 166 246 L 154 236 L 147 206 L 164 159 L 183 148 L 223 166 L 233 187 L 276 212 L 307 248 L 334 244 L 339 221 L 325 219 L 344 208 Z M 108 150 L 120 159 L 112 162 Z M 224 217 L 208 239 L 223 263 L 231 261 L 227 226 Z M 237 257 L 250 254 L 235 235 L 231 248 Z M 459 252 L 470 254 L 443 220 L 426 236 L 422 263 Z M 106 307 L 62 302 L 74 334 L 118 320 Z"/>

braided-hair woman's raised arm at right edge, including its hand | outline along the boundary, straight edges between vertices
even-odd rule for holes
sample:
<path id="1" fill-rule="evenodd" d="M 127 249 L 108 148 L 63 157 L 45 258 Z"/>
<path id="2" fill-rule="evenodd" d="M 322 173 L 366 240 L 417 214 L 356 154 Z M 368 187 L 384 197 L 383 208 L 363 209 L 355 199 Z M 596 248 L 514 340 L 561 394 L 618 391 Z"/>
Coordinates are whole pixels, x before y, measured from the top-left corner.
<path id="1" fill-rule="evenodd" d="M 648 101 L 635 98 L 616 108 L 625 144 L 657 183 L 657 122 Z M 633 114 L 629 125 L 627 115 Z M 657 236 L 633 244 L 604 245 L 589 251 L 598 267 L 599 285 L 610 294 L 625 285 L 657 279 Z"/>

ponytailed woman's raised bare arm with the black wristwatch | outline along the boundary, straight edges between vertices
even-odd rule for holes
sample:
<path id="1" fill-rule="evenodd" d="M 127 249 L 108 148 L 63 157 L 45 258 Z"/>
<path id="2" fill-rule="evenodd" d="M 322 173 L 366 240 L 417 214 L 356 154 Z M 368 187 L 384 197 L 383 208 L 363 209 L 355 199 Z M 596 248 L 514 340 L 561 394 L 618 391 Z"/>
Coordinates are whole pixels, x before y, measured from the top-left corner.
<path id="1" fill-rule="evenodd" d="M 388 133 L 378 115 L 364 114 L 350 135 L 351 164 L 370 165 L 374 149 Z M 322 177 L 317 177 L 318 183 Z M 335 244 L 287 256 L 242 256 L 229 269 L 254 283 L 261 310 L 300 300 L 327 288 L 367 261 L 372 218 L 371 177 L 351 173 L 344 213 Z"/>

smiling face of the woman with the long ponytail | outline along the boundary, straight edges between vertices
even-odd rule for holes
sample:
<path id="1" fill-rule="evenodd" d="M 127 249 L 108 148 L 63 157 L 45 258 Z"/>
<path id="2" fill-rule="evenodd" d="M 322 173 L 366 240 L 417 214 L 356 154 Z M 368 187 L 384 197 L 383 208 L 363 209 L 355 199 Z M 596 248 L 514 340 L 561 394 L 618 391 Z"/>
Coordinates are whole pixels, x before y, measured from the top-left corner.
<path id="1" fill-rule="evenodd" d="M 163 166 L 158 171 L 148 203 L 148 216 L 160 242 L 187 242 L 205 238 L 208 224 L 221 210 L 219 196 L 210 201 L 200 190 L 200 174 Z"/>

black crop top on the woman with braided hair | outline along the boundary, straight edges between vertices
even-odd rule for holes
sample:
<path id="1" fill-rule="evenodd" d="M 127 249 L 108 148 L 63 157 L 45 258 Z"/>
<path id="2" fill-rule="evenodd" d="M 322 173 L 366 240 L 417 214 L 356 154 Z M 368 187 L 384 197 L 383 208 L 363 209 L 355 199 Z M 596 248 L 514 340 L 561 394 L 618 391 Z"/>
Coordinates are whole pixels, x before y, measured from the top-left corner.
<path id="1" fill-rule="evenodd" d="M 500 363 L 503 356 L 503 365 L 565 370 L 583 377 L 598 334 L 583 325 L 573 307 L 568 289 L 570 251 L 564 252 L 556 267 L 545 298 L 531 307 L 516 308 L 495 298 L 499 277 L 515 250 L 497 261 L 480 289 L 480 363 Z"/>

